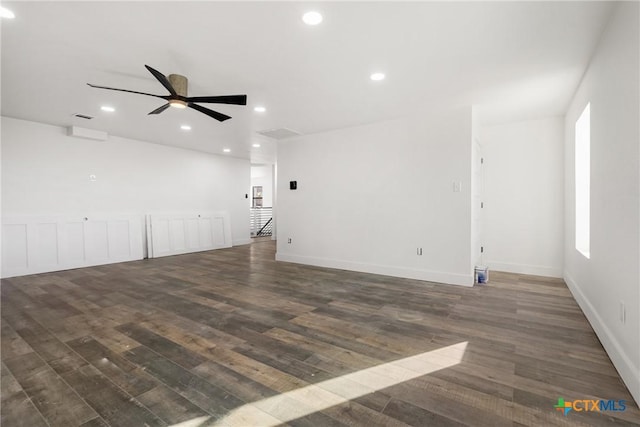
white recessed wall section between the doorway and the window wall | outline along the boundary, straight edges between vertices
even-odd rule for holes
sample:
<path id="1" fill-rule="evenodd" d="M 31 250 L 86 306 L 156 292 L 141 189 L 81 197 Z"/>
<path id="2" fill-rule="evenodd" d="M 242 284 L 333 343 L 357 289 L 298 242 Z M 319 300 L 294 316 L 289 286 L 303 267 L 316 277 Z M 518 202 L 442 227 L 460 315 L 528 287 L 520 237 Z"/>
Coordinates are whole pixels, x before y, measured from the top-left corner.
<path id="1" fill-rule="evenodd" d="M 563 118 L 484 127 L 480 135 L 484 263 L 562 277 Z"/>

